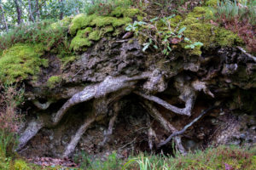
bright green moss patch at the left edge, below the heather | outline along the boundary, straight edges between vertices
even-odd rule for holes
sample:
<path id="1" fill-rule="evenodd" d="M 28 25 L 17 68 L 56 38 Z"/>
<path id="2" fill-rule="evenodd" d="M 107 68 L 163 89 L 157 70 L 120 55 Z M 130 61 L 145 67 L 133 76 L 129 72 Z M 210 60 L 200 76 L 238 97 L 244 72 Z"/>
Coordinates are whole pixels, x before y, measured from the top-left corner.
<path id="1" fill-rule="evenodd" d="M 40 65 L 47 66 L 47 59 L 40 59 L 44 54 L 41 44 L 15 44 L 3 51 L 0 58 L 0 78 L 3 82 L 14 83 L 25 80 L 29 75 L 36 75 Z"/>

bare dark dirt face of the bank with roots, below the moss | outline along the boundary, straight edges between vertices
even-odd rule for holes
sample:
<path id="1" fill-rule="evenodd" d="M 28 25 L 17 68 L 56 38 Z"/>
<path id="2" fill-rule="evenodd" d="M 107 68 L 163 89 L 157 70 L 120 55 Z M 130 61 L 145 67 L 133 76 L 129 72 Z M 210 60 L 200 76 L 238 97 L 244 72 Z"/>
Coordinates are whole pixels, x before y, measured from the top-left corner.
<path id="1" fill-rule="evenodd" d="M 123 158 L 139 151 L 172 154 L 171 142 L 160 149 L 156 144 L 217 103 L 183 133 L 182 147 L 256 142 L 253 59 L 237 48 L 205 49 L 201 57 L 173 51 L 163 57 L 143 53 L 136 38 L 128 41 L 102 39 L 64 68 L 52 56 L 53 68 L 42 71 L 38 82 L 26 82 L 24 107 L 31 109 L 20 130 L 21 156 L 72 157 L 82 150 L 98 157 L 113 150 Z M 45 80 L 52 75 L 62 81 L 48 88 Z M 50 105 L 42 110 L 34 101 Z M 145 101 L 172 127 L 146 111 Z"/>

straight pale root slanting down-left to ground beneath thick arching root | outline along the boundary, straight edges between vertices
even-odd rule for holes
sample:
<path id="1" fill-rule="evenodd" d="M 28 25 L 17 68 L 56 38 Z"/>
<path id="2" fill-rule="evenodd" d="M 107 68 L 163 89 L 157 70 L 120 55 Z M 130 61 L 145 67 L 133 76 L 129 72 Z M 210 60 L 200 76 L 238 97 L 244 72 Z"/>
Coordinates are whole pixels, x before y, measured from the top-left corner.
<path id="1" fill-rule="evenodd" d="M 85 131 L 88 129 L 88 127 L 90 127 L 91 123 L 93 123 L 95 121 L 95 119 L 96 119 L 95 116 L 90 116 L 90 117 L 85 118 L 84 124 L 81 127 L 79 127 L 79 130 L 73 136 L 70 143 L 67 144 L 67 148 L 64 151 L 64 154 L 62 157 L 67 157 L 71 153 L 73 153 L 73 151 L 75 150 L 77 144 L 79 143 L 79 140 L 81 139 L 82 135 L 85 133 Z"/>

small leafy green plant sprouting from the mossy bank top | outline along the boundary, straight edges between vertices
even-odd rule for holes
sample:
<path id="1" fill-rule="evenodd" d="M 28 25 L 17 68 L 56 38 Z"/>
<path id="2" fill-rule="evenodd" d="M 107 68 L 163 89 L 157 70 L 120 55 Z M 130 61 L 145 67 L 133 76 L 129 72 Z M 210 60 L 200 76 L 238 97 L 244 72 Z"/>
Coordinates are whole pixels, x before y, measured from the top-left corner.
<path id="1" fill-rule="evenodd" d="M 137 22 L 129 24 L 125 31 L 132 31 L 136 36 L 142 36 L 146 42 L 143 43 L 143 51 L 146 51 L 150 46 L 155 49 L 160 49 L 162 54 L 168 55 L 172 52 L 172 48 L 179 42 L 189 43 L 185 48 L 201 47 L 201 42 L 192 42 L 189 38 L 183 36 L 186 27 L 173 29 L 171 19 L 175 16 L 172 14 L 168 17 L 155 17 L 149 22 Z"/>

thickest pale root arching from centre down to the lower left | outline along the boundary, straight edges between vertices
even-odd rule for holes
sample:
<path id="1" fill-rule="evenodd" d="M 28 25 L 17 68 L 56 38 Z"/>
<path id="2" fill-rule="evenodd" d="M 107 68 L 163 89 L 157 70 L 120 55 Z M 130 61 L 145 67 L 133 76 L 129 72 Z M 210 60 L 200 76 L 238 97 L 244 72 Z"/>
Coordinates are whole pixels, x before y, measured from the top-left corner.
<path id="1" fill-rule="evenodd" d="M 137 81 L 147 79 L 148 77 L 150 77 L 150 73 L 148 72 L 145 72 L 142 75 L 135 77 L 106 77 L 106 79 L 103 82 L 87 86 L 86 88 L 84 88 L 83 91 L 79 92 L 78 94 L 74 94 L 71 99 L 68 99 L 67 102 L 64 105 L 62 105 L 61 109 L 57 111 L 56 114 L 53 114 L 52 123 L 50 123 L 50 125 L 48 126 L 55 127 L 61 121 L 61 118 L 65 115 L 65 113 L 67 113 L 67 111 L 73 105 L 77 105 L 90 99 L 104 98 L 107 94 L 117 92 L 123 88 L 132 88 L 137 83 Z M 117 96 L 116 98 L 118 99 L 120 96 L 121 95 Z M 113 99 L 110 99 L 110 101 L 111 100 Z M 37 105 L 41 109 L 48 107 L 48 105 L 42 105 L 38 102 L 36 102 L 35 105 Z M 22 133 L 20 136 L 20 144 L 18 149 L 20 150 L 23 146 L 25 146 L 26 143 L 30 139 L 32 139 L 32 137 L 34 137 L 42 127 L 45 126 L 46 123 L 41 121 L 30 122 L 24 133 Z M 81 132 L 82 130 L 83 128 L 81 129 Z M 69 153 L 69 151 L 67 151 L 67 153 Z"/>

